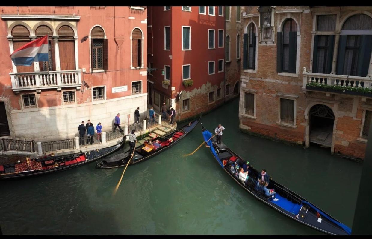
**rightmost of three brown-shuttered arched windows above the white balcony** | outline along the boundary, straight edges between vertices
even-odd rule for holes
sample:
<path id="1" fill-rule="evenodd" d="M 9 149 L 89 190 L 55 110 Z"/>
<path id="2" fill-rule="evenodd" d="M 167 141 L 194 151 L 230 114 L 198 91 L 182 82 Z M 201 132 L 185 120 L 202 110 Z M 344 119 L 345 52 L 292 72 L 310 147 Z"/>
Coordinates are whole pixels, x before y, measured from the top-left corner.
<path id="1" fill-rule="evenodd" d="M 74 30 L 67 25 L 61 26 L 58 29 L 58 36 L 61 70 L 75 70 Z"/>

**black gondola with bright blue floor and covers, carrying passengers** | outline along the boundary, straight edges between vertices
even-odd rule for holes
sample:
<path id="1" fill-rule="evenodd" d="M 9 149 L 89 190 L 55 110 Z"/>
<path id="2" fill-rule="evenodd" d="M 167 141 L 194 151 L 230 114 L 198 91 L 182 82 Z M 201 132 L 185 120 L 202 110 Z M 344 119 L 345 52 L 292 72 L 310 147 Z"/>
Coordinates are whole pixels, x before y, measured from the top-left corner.
<path id="1" fill-rule="evenodd" d="M 202 126 L 203 138 L 206 141 L 212 137 L 211 132 Z M 225 172 L 232 177 L 241 187 L 243 187 L 251 195 L 266 203 L 278 212 L 310 226 L 311 228 L 320 230 L 332 235 L 350 235 L 351 229 L 334 219 L 332 216 L 319 209 L 314 204 L 308 202 L 303 197 L 288 188 L 275 182 L 270 178 L 267 189 L 275 189 L 275 197 L 279 200 L 272 200 L 272 196 L 266 196 L 264 186 L 257 183 L 257 176 L 261 171 L 257 171 L 248 163 L 249 170 L 251 171 L 246 183 L 241 182 L 239 175 L 236 173 L 236 168 L 242 167 L 247 162 L 243 160 L 236 153 L 232 152 L 226 145 L 221 142 L 221 145 L 216 143 L 215 137 L 208 142 L 212 155 L 225 170 Z"/>

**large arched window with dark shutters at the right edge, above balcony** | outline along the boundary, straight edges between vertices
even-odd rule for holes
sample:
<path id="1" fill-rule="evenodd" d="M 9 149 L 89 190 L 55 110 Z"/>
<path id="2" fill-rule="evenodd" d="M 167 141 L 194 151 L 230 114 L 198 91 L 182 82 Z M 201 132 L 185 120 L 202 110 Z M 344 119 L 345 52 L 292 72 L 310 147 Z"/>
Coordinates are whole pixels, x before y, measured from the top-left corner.
<path id="1" fill-rule="evenodd" d="M 337 74 L 366 76 L 372 50 L 372 19 L 365 14 L 349 17 L 342 26 Z"/>

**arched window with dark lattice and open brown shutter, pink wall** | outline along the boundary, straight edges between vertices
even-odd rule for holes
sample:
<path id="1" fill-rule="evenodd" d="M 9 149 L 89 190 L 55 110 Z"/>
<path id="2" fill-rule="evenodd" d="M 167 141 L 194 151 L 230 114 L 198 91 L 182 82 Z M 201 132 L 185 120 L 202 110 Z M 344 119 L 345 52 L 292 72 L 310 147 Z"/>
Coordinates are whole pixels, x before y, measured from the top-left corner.
<path id="1" fill-rule="evenodd" d="M 108 70 L 108 40 L 102 27 L 93 27 L 90 32 L 92 49 L 92 70 Z"/>

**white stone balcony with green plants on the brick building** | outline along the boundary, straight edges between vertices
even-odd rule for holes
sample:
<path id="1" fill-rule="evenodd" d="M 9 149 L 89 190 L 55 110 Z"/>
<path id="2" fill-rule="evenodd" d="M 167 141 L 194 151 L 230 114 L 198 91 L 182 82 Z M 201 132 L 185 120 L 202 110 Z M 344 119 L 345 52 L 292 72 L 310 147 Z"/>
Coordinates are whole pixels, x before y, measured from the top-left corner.
<path id="1" fill-rule="evenodd" d="M 351 94 L 372 97 L 372 78 L 303 72 L 302 89 L 333 94 Z"/>

